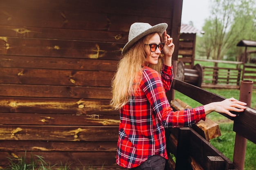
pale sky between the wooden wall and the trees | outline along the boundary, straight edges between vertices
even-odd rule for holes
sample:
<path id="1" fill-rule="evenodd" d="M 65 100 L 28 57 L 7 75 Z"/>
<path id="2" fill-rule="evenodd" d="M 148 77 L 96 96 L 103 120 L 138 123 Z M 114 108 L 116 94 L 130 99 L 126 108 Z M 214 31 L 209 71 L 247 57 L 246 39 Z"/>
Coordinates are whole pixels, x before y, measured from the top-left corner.
<path id="1" fill-rule="evenodd" d="M 202 30 L 204 20 L 210 15 L 210 0 L 183 0 L 182 5 L 182 24 L 193 22 L 193 26 Z"/>

